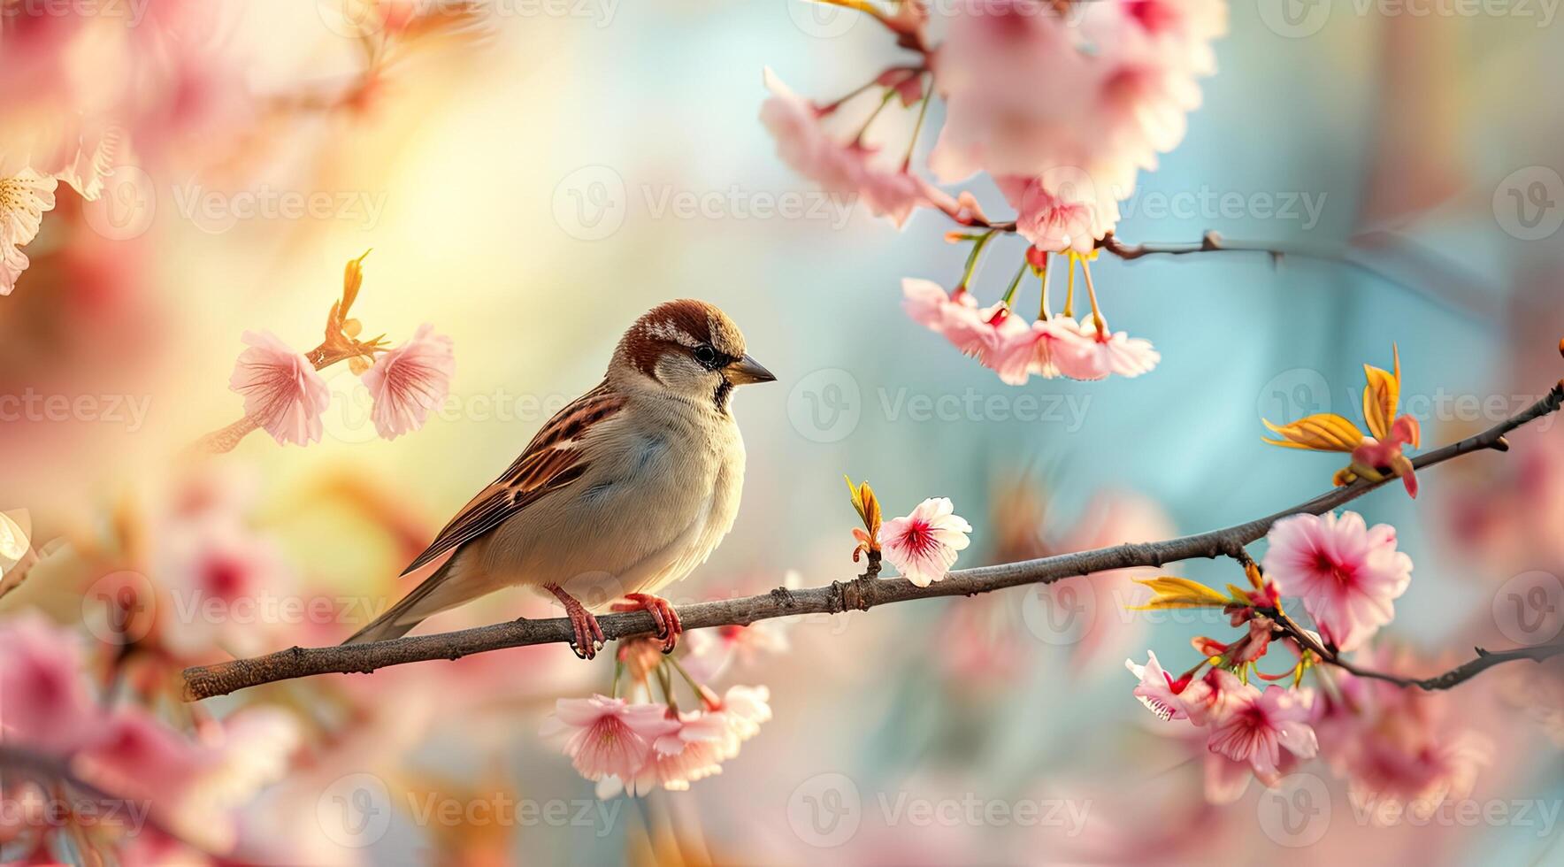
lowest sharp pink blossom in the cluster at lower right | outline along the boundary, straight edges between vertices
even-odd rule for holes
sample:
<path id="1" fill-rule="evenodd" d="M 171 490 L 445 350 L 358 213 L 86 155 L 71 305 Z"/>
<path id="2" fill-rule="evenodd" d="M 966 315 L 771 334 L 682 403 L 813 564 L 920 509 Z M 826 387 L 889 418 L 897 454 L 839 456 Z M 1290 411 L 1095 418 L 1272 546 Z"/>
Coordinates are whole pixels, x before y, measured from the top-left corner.
<path id="1" fill-rule="evenodd" d="M 1243 685 L 1231 693 L 1221 717 L 1212 721 L 1206 746 L 1229 759 L 1248 762 L 1261 781 L 1275 778 L 1281 748 L 1300 759 L 1311 759 L 1320 745 L 1304 721 L 1309 707 L 1293 690 L 1278 685 L 1261 692 Z"/>

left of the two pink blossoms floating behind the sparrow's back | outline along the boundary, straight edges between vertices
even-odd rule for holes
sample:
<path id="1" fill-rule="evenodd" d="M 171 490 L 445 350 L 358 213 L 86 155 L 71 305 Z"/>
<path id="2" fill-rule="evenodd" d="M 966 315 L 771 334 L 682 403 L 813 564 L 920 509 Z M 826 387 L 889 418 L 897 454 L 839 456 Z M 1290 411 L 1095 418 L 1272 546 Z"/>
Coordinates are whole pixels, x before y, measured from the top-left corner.
<path id="1" fill-rule="evenodd" d="M 314 365 L 271 332 L 244 332 L 242 340 L 250 347 L 239 354 L 228 388 L 244 394 L 244 415 L 278 443 L 317 441 L 332 391 Z"/>

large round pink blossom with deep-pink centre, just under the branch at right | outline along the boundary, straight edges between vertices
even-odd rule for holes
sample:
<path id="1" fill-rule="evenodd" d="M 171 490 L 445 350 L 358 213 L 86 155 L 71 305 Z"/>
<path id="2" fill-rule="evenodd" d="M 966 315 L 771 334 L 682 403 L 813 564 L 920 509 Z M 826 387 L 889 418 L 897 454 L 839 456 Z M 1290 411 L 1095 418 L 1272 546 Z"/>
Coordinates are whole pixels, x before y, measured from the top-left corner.
<path id="1" fill-rule="evenodd" d="M 1395 549 L 1395 527 L 1362 515 L 1293 515 L 1267 534 L 1265 574 L 1303 599 L 1320 634 L 1339 649 L 1361 648 L 1395 617 L 1412 581 L 1412 559 Z"/>

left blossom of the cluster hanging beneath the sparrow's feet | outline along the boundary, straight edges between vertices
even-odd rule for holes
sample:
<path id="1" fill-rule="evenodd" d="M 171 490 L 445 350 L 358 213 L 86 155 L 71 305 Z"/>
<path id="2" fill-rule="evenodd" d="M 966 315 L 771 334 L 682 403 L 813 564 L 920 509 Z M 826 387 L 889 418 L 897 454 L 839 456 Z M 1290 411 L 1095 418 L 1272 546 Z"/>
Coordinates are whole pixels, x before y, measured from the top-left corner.
<path id="1" fill-rule="evenodd" d="M 627 704 L 622 698 L 593 695 L 561 698 L 544 720 L 544 737 L 565 737 L 565 754 L 586 779 L 635 779 L 651 756 L 652 742 L 679 728 L 663 704 Z"/>

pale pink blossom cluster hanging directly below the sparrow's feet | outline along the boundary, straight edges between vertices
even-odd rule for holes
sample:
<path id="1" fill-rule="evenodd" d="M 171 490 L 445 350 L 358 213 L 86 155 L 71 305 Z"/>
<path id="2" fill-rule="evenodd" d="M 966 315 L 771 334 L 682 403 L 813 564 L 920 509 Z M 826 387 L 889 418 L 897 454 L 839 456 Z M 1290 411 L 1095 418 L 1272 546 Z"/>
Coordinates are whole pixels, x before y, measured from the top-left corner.
<path id="1" fill-rule="evenodd" d="M 561 698 L 541 734 L 560 743 L 576 770 L 596 781 L 599 797 L 644 795 L 657 787 L 688 789 L 723 773 L 723 762 L 771 718 L 766 687 L 729 687 L 699 711 L 662 703 L 630 704 L 593 695 Z"/>

